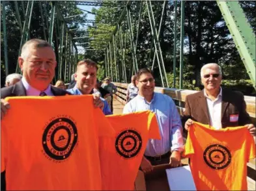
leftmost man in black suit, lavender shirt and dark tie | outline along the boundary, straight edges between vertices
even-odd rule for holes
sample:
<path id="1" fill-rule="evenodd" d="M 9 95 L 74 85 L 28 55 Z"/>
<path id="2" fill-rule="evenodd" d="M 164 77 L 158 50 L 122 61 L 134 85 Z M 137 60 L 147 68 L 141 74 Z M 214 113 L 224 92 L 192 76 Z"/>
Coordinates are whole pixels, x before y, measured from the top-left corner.
<path id="1" fill-rule="evenodd" d="M 8 109 L 11 109 L 9 103 L 5 101 L 5 97 L 70 94 L 65 90 L 51 86 L 57 62 L 53 48 L 48 42 L 40 39 L 27 41 L 21 48 L 18 62 L 23 77 L 19 83 L 1 88 L 1 119 L 8 112 Z M 97 95 L 94 95 L 93 102 L 95 107 L 103 108 L 104 106 Z M 5 172 L 1 173 L 1 190 L 5 190 Z"/>

